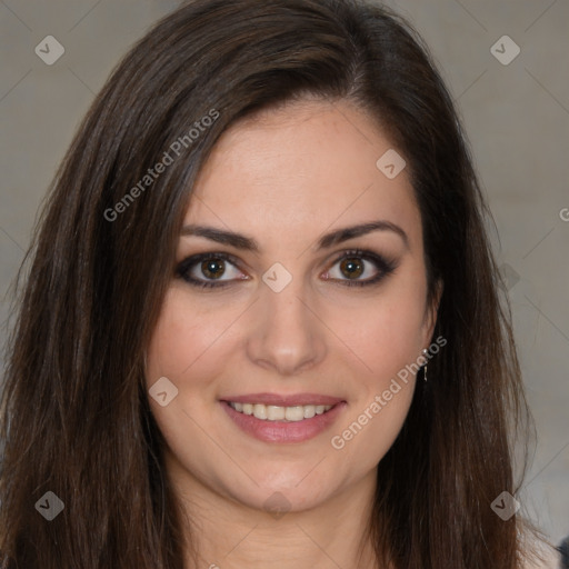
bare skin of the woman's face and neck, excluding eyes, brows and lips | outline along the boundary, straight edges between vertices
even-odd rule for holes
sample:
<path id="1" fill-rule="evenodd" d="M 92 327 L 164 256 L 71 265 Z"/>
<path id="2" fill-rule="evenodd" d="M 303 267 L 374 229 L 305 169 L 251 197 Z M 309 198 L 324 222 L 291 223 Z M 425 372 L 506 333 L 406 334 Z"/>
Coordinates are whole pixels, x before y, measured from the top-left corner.
<path id="1" fill-rule="evenodd" d="M 200 173 L 184 224 L 242 233 L 260 248 L 180 237 L 178 263 L 227 252 L 239 266 L 226 262 L 230 286 L 220 289 L 172 279 L 147 353 L 148 387 L 167 377 L 178 388 L 166 407 L 150 403 L 200 567 L 376 567 L 363 539 L 376 469 L 402 427 L 415 377 L 342 449 L 330 439 L 429 347 L 438 303 L 427 306 L 421 218 L 407 171 L 390 180 L 376 167 L 390 148 L 350 102 L 303 100 L 234 124 Z M 399 226 L 408 243 L 378 230 L 317 250 L 323 233 L 379 219 Z M 346 286 L 337 260 L 355 248 L 397 268 L 379 283 Z M 373 261 L 358 261 L 366 267 L 359 280 L 378 272 Z M 276 262 L 292 276 L 280 292 L 262 281 Z M 192 274 L 208 280 L 200 266 Z M 262 442 L 219 401 L 261 391 L 329 395 L 347 407 L 311 440 Z M 274 492 L 289 510 L 278 519 L 264 506 Z M 187 567 L 194 567 L 189 551 Z"/>

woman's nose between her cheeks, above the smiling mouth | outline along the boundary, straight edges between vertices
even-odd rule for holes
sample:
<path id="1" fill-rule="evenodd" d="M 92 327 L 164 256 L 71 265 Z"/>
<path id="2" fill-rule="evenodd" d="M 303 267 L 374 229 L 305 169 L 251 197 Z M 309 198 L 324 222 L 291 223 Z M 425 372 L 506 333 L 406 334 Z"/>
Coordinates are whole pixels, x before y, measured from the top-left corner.
<path id="1" fill-rule="evenodd" d="M 263 284 L 252 307 L 249 359 L 280 376 L 295 376 L 318 366 L 328 348 L 326 327 L 316 308 L 300 279 L 293 279 L 280 292 Z"/>

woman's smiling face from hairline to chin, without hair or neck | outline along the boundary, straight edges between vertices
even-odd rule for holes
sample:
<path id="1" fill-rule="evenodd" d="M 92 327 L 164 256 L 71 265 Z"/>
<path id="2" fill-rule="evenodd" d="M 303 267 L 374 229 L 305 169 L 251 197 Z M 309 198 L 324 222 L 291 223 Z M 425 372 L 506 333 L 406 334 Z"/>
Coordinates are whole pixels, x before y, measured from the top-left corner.
<path id="1" fill-rule="evenodd" d="M 296 511 L 375 476 L 435 325 L 402 166 L 348 102 L 291 103 L 220 139 L 147 358 L 180 487 Z"/>

